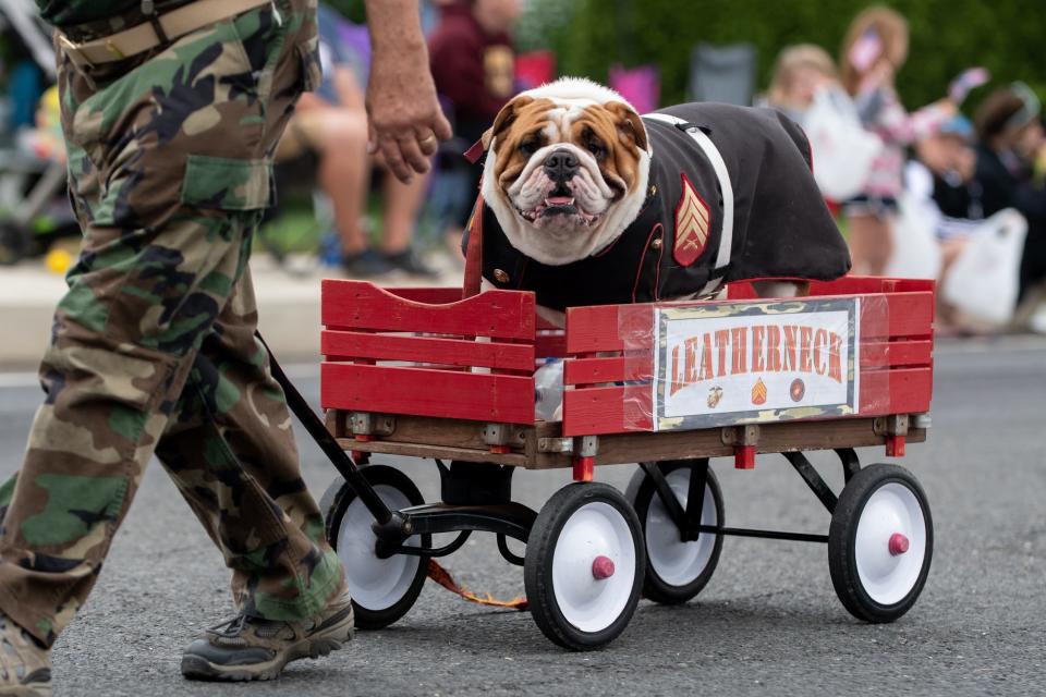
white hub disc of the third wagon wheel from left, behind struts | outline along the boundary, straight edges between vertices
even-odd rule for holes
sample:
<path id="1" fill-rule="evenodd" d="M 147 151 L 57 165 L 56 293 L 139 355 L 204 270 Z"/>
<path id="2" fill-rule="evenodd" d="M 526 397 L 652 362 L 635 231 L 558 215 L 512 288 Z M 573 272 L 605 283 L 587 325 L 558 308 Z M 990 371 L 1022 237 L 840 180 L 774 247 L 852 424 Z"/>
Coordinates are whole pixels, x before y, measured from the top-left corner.
<path id="1" fill-rule="evenodd" d="M 665 477 L 684 511 L 690 493 L 690 468 L 681 467 Z M 701 524 L 718 525 L 718 517 L 711 487 L 706 484 L 705 500 L 701 506 Z M 693 583 L 708 566 L 715 547 L 716 536 L 708 533 L 702 533 L 692 542 L 682 541 L 679 538 L 679 527 L 668 514 L 668 509 L 661 498 L 654 493 L 646 511 L 646 558 L 661 580 L 671 586 Z"/>

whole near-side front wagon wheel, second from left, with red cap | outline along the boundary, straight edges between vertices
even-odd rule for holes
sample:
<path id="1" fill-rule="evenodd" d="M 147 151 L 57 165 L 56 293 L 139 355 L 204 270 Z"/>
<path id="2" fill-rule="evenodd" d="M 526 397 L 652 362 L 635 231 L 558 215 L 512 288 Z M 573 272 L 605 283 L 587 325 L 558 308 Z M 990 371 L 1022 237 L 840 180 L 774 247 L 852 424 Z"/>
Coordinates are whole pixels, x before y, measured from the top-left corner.
<path id="1" fill-rule="evenodd" d="M 537 515 L 523 578 L 534 622 L 577 651 L 599 648 L 628 626 L 645 559 L 635 511 L 604 484 L 572 484 Z"/>

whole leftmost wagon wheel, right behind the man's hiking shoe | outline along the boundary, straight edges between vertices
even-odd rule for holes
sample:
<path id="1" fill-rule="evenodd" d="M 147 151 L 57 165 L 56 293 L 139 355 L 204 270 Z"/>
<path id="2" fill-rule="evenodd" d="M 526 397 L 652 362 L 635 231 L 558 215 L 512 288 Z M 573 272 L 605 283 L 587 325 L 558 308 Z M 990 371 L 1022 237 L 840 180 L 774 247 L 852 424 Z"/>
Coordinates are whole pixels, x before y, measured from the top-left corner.
<path id="1" fill-rule="evenodd" d="M 393 511 L 425 502 L 410 477 L 386 465 L 363 467 L 361 473 Z M 402 617 L 417 600 L 428 570 L 426 558 L 394 554 L 379 559 L 374 517 L 355 490 L 340 477 L 327 489 L 320 503 L 327 519 L 327 540 L 345 570 L 356 626 L 380 629 Z M 428 535 L 410 538 L 404 546 L 430 547 Z"/>

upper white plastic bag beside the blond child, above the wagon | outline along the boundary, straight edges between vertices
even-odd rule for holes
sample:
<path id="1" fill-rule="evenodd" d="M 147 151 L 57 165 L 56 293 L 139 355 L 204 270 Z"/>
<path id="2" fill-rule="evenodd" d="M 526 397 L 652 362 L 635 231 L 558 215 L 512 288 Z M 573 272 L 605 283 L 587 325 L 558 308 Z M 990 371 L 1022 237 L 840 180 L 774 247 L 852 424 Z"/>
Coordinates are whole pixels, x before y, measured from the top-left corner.
<path id="1" fill-rule="evenodd" d="M 861 193 L 883 140 L 861 126 L 853 101 L 840 89 L 822 89 L 803 117 L 814 155 L 814 179 L 825 198 L 843 201 Z"/>

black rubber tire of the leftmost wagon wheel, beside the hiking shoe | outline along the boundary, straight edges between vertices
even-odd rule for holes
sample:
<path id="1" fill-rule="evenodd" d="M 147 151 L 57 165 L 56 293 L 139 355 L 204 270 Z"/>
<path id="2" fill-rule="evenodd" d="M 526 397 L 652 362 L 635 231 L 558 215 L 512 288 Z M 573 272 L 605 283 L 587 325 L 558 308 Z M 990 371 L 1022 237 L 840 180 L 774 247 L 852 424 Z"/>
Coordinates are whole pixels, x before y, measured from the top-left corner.
<path id="1" fill-rule="evenodd" d="M 414 482 L 411 481 L 411 478 L 396 467 L 389 467 L 388 465 L 367 465 L 362 467 L 361 472 L 372 486 L 385 485 L 402 492 L 406 497 L 406 500 L 411 502 L 411 505 L 425 503 L 425 499 Z M 327 491 L 320 499 L 320 511 L 323 511 L 324 518 L 326 519 L 327 541 L 336 552 L 338 551 L 338 530 L 341 528 L 342 517 L 344 517 L 345 511 L 349 510 L 349 504 L 351 504 L 355 498 L 355 490 L 349 486 L 344 479 L 338 477 L 327 488 Z M 431 547 L 430 535 L 422 536 L 422 546 Z M 355 612 L 356 628 L 381 629 L 400 620 L 400 617 L 405 615 L 414 606 L 417 596 L 422 592 L 422 586 L 425 585 L 425 578 L 427 576 L 428 558 L 422 557 L 419 558 L 417 571 L 414 574 L 411 585 L 403 594 L 403 597 L 393 604 L 388 608 L 374 610 L 363 607 L 354 598 L 352 607 Z"/>

